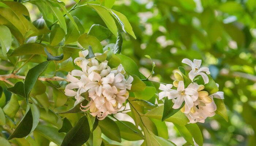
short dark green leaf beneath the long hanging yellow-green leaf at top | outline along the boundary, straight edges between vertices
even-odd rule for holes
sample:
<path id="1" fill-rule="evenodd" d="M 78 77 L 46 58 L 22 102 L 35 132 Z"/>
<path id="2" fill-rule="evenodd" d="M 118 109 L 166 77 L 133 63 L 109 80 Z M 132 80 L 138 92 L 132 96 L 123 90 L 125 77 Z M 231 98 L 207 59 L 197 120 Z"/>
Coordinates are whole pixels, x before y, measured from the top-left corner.
<path id="1" fill-rule="evenodd" d="M 110 31 L 108 28 L 99 24 L 93 24 L 88 32 L 88 35 L 96 37 L 100 42 L 110 37 Z"/>

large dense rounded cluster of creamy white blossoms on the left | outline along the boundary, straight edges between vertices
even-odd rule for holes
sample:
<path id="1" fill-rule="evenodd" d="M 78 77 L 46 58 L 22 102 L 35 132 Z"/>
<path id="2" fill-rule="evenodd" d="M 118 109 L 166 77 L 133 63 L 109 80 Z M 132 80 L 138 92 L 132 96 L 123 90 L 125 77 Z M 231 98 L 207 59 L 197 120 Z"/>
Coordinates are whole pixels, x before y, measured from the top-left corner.
<path id="1" fill-rule="evenodd" d="M 67 75 L 70 82 L 65 87 L 65 95 L 75 96 L 76 102 L 82 101 L 82 93 L 88 92 L 90 101 L 87 105 L 81 104 L 81 110 L 90 110 L 90 114 L 97 116 L 99 120 L 109 114 L 116 114 L 129 96 L 127 91 L 131 89 L 133 77 L 125 79 L 125 70 L 120 64 L 117 69 L 111 69 L 108 61 L 101 63 L 94 57 L 86 59 L 88 50 L 79 52 L 79 57 L 74 62 L 82 70 L 72 70 Z M 101 55 L 95 53 L 95 56 Z"/>

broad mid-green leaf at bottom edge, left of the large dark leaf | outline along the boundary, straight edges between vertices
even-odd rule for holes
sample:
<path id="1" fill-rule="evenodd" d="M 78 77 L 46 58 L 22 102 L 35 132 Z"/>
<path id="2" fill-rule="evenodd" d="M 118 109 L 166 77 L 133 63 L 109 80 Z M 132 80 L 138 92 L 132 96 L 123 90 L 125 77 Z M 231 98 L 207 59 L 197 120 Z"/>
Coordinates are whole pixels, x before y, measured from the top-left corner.
<path id="1" fill-rule="evenodd" d="M 59 133 L 57 128 L 51 126 L 38 125 L 37 128 L 35 128 L 35 131 L 57 145 L 61 144 L 65 136 L 64 133 Z"/>

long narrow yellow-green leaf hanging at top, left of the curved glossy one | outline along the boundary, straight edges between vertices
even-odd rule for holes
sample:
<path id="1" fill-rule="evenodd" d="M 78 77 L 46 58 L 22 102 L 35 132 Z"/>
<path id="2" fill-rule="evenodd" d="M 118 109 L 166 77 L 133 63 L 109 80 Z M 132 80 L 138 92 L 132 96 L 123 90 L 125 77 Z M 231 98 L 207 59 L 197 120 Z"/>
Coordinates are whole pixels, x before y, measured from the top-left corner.
<path id="1" fill-rule="evenodd" d="M 117 26 L 114 19 L 109 14 L 108 10 L 103 8 L 101 5 L 90 5 L 90 7 L 95 9 L 99 16 L 101 16 L 101 19 L 105 22 L 109 30 L 117 37 Z"/>

